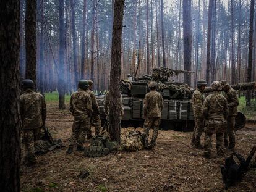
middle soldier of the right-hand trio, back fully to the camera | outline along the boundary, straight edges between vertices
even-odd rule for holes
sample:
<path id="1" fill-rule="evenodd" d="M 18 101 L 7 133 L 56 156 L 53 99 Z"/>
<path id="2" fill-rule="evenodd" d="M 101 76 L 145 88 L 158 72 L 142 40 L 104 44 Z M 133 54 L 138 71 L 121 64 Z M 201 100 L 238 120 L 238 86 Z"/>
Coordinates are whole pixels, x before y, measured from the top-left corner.
<path id="1" fill-rule="evenodd" d="M 224 154 L 224 138 L 226 133 L 226 119 L 228 117 L 228 102 L 220 94 L 221 85 L 218 81 L 211 84 L 213 94 L 210 94 L 203 102 L 203 116 L 205 117 L 205 151 L 204 156 L 211 156 L 211 137 L 216 133 L 217 154 Z"/>

